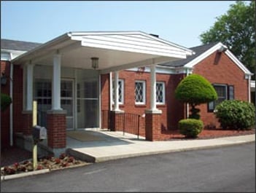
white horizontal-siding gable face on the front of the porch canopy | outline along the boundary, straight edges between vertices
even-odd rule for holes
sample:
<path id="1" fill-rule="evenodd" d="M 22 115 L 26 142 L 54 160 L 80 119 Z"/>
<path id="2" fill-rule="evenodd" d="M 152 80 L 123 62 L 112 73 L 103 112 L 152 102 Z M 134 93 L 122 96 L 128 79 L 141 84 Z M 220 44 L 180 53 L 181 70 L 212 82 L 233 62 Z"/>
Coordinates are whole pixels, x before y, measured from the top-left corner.
<path id="1" fill-rule="evenodd" d="M 174 58 L 186 58 L 193 51 L 159 39 L 141 31 L 129 32 L 70 32 L 72 40 L 80 41 L 85 47 L 98 47 L 125 52 L 138 52 Z"/>

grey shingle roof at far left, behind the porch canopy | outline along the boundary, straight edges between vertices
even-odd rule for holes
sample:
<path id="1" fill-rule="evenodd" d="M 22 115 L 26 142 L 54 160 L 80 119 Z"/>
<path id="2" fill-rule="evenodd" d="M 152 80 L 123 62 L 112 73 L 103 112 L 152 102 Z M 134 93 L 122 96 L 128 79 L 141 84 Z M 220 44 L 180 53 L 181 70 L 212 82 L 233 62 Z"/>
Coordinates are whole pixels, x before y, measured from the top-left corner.
<path id="1" fill-rule="evenodd" d="M 35 42 L 24 42 L 11 39 L 1 39 L 1 49 L 29 51 L 41 45 Z"/>

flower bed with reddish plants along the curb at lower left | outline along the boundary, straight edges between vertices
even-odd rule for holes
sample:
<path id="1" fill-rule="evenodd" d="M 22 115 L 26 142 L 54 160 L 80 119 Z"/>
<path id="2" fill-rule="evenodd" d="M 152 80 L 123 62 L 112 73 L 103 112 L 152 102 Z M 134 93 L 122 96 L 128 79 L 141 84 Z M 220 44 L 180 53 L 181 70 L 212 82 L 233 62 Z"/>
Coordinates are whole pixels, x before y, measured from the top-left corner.
<path id="1" fill-rule="evenodd" d="M 85 165 L 89 164 L 88 162 L 83 162 L 79 159 L 75 159 L 74 157 L 68 154 L 61 154 L 59 157 L 42 157 L 37 162 L 36 170 L 42 169 L 60 169 L 67 168 L 74 165 Z M 18 173 L 26 173 L 34 171 L 33 162 L 31 160 L 26 160 L 23 162 L 15 162 L 13 165 L 4 166 L 1 168 L 1 176 L 7 176 Z"/>

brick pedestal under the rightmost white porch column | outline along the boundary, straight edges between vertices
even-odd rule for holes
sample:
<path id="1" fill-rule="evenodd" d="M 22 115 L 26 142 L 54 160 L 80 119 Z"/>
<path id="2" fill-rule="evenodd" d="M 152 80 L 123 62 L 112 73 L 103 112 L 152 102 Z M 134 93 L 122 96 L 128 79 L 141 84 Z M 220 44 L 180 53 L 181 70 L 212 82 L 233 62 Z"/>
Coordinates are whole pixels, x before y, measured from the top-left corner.
<path id="1" fill-rule="evenodd" d="M 161 140 L 161 122 L 162 111 L 145 111 L 145 136 L 147 141 Z"/>

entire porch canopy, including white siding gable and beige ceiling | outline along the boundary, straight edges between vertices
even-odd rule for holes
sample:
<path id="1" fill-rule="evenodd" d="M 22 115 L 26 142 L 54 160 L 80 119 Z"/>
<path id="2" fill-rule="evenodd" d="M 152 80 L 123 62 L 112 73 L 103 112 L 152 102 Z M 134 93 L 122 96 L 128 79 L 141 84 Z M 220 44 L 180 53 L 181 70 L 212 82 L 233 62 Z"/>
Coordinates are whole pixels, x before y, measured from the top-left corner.
<path id="1" fill-rule="evenodd" d="M 155 36 L 132 32 L 70 32 L 12 60 L 15 64 L 53 65 L 61 54 L 61 66 L 92 69 L 92 57 L 99 58 L 102 72 L 179 60 L 193 51 Z"/>

